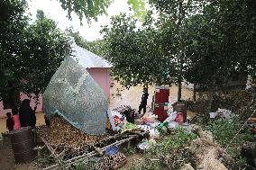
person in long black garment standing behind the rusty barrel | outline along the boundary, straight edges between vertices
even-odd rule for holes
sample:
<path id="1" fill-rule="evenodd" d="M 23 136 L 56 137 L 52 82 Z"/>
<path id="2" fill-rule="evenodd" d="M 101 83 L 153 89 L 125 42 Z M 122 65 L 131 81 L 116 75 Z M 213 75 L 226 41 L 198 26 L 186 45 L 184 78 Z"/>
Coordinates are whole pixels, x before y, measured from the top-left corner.
<path id="1" fill-rule="evenodd" d="M 24 99 L 23 103 L 19 109 L 21 127 L 31 126 L 32 129 L 35 127 L 36 118 L 35 114 L 32 111 L 32 107 L 30 106 L 30 100 Z"/>

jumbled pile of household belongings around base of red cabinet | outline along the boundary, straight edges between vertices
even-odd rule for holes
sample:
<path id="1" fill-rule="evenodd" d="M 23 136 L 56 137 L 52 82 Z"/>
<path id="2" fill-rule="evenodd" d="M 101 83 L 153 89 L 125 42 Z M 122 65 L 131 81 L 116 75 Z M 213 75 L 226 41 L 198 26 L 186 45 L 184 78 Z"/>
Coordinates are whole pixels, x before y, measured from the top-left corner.
<path id="1" fill-rule="evenodd" d="M 124 114 L 125 112 L 125 114 Z M 131 106 L 120 106 L 111 111 L 111 115 L 114 119 L 116 130 L 120 130 L 121 133 L 125 132 L 149 132 L 150 138 L 144 139 L 138 145 L 140 149 L 150 148 L 150 143 L 155 143 L 160 138 L 160 133 L 171 133 L 176 127 L 187 126 L 188 123 L 184 121 L 183 114 L 181 112 L 169 111 L 167 119 L 165 121 L 159 121 L 158 115 L 152 112 L 146 112 L 142 117 L 134 113 L 134 124 L 127 121 L 127 115 L 133 115 L 134 110 Z"/>

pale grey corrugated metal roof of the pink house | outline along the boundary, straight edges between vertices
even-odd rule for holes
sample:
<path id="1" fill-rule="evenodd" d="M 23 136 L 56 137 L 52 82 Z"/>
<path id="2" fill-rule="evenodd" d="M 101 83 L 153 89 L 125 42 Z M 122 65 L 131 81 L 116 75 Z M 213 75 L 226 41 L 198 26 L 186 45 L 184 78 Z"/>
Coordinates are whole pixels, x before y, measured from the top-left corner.
<path id="1" fill-rule="evenodd" d="M 111 67 L 107 60 L 97 56 L 96 54 L 79 47 L 75 42 L 72 43 L 71 57 L 78 61 L 82 67 Z"/>

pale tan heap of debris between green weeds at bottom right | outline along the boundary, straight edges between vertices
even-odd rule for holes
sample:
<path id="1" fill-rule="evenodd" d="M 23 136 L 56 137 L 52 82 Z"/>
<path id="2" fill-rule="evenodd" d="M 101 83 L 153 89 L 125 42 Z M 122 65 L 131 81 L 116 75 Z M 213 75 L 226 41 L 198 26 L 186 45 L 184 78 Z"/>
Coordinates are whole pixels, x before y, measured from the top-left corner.
<path id="1" fill-rule="evenodd" d="M 195 169 L 218 169 L 228 170 L 237 169 L 237 164 L 230 157 L 224 148 L 216 143 L 211 132 L 202 130 L 199 126 L 191 126 L 193 133 L 197 134 L 198 138 L 192 140 L 188 147 L 191 157 L 195 161 L 185 164 L 181 170 Z"/>

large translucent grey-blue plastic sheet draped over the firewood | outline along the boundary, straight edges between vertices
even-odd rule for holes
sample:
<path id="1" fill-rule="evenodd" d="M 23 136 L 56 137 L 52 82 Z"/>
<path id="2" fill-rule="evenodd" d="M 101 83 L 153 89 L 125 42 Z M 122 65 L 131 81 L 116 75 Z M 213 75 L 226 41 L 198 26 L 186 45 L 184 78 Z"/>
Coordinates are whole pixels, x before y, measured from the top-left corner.
<path id="1" fill-rule="evenodd" d="M 58 113 L 78 130 L 88 134 L 105 133 L 107 98 L 103 90 L 73 58 L 67 57 L 52 76 L 43 94 L 44 113 Z"/>

